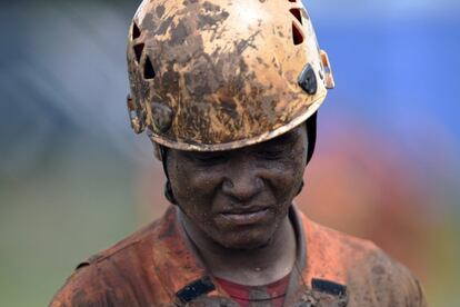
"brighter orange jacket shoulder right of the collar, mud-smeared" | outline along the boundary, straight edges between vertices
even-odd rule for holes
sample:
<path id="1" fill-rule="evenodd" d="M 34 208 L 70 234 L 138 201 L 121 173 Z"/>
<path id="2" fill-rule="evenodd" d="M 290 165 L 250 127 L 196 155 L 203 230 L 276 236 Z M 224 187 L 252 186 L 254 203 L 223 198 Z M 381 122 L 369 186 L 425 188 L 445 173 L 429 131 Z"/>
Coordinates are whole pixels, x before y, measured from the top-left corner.
<path id="1" fill-rule="evenodd" d="M 332 267 L 347 285 L 350 306 L 427 306 L 419 280 L 373 242 L 303 217 L 308 251 L 317 274 Z"/>

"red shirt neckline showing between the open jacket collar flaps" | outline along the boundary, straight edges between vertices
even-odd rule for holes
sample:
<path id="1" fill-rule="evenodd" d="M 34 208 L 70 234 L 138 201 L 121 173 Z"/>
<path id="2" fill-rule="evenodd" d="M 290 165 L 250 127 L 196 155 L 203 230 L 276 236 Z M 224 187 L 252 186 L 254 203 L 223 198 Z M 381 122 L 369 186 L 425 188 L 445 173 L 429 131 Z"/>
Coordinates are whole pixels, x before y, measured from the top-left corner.
<path id="1" fill-rule="evenodd" d="M 214 279 L 241 307 L 249 306 L 251 301 L 261 303 L 267 300 L 270 303 L 269 306 L 281 307 L 284 303 L 289 276 L 266 286 L 244 286 L 217 277 Z"/>

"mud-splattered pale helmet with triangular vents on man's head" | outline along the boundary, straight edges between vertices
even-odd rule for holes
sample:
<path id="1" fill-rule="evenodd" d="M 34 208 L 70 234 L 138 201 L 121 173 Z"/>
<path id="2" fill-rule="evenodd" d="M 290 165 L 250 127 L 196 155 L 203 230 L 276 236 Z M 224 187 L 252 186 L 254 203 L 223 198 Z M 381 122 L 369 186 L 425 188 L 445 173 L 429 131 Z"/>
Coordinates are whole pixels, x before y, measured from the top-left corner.
<path id="1" fill-rule="evenodd" d="M 333 88 L 300 0 L 144 0 L 128 44 L 136 132 L 180 150 L 284 133 Z"/>

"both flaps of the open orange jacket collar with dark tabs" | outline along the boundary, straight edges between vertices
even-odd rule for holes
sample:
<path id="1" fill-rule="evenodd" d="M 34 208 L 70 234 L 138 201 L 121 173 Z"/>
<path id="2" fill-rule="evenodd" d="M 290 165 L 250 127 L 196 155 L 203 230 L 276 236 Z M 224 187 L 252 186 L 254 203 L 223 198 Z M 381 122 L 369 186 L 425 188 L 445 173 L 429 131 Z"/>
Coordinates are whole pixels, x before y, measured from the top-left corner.
<path id="1" fill-rule="evenodd" d="M 309 291 L 346 293 L 341 285 L 344 283 L 343 269 L 337 255 L 328 248 L 328 238 L 296 206 L 291 206 L 289 217 L 296 231 L 298 252 L 284 305 L 299 301 Z M 160 220 L 153 241 L 156 273 L 176 303 L 183 304 L 201 295 L 227 296 L 196 256 L 174 206 L 169 207 Z"/>

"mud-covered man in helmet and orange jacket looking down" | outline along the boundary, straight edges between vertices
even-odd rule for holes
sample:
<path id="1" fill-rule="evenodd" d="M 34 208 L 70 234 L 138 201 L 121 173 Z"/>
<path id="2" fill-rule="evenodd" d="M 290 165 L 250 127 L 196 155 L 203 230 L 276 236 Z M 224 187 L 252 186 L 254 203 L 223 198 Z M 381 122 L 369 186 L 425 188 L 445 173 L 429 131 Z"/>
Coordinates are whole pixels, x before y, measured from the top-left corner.
<path id="1" fill-rule="evenodd" d="M 144 0 L 128 62 L 171 206 L 50 306 L 426 306 L 406 267 L 292 202 L 334 87 L 300 0 Z"/>

